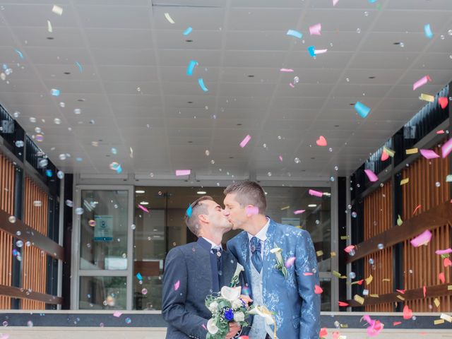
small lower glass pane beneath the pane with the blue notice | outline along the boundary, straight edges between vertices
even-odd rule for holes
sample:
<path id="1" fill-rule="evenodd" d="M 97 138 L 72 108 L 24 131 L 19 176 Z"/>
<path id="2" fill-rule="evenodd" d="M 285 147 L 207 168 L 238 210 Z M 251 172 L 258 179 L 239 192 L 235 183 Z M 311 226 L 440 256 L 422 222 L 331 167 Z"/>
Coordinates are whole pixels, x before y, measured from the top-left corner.
<path id="1" fill-rule="evenodd" d="M 81 277 L 80 309 L 126 309 L 126 277 Z"/>

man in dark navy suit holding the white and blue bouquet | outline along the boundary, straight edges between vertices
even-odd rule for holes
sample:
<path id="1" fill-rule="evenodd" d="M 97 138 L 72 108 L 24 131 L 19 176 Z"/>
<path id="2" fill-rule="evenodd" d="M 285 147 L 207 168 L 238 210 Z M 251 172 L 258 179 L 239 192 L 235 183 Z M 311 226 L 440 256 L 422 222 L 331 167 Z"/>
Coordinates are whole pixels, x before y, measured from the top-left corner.
<path id="1" fill-rule="evenodd" d="M 166 338 L 170 339 L 206 338 L 211 317 L 206 296 L 229 286 L 237 268 L 236 258 L 222 250 L 222 236 L 232 225 L 221 206 L 203 196 L 189 210 L 185 222 L 198 241 L 171 249 L 165 262 L 162 316 L 169 325 Z M 230 323 L 226 339 L 234 338 L 239 330 L 237 323 Z"/>

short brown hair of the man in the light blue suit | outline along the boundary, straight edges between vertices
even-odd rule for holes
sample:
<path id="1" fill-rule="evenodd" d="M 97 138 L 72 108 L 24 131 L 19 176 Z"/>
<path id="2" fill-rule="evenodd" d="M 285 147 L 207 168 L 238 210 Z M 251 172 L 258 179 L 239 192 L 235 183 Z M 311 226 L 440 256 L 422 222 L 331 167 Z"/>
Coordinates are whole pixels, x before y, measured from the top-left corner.
<path id="1" fill-rule="evenodd" d="M 225 196 L 227 194 L 236 194 L 235 200 L 242 207 L 253 205 L 259 209 L 259 214 L 265 214 L 266 212 L 266 194 L 261 185 L 256 182 L 236 182 L 227 186 L 223 193 Z"/>

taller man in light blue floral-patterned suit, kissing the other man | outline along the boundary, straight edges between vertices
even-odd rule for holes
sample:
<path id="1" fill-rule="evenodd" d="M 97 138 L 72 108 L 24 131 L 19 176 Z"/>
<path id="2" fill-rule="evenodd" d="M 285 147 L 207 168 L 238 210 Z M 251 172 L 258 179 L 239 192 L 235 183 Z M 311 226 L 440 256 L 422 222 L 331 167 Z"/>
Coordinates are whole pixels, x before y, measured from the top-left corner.
<path id="1" fill-rule="evenodd" d="M 319 272 L 309 233 L 267 218 L 266 196 L 256 182 L 231 184 L 224 193 L 225 216 L 233 230 L 244 231 L 227 249 L 245 268 L 254 304 L 273 312 L 276 326 L 254 316 L 249 339 L 273 339 L 274 333 L 280 339 L 318 339 Z"/>

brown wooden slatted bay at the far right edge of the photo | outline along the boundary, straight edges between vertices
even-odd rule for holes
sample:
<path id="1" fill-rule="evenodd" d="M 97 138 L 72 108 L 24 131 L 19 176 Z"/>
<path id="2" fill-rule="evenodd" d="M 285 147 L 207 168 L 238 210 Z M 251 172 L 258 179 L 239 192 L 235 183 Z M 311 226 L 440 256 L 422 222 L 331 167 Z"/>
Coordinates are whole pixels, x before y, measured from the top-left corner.
<path id="1" fill-rule="evenodd" d="M 440 148 L 434 151 L 441 154 Z M 439 157 L 427 160 L 420 157 L 410 167 L 403 171 L 403 178 L 410 178 L 410 182 L 402 186 L 403 217 L 409 219 L 418 205 L 422 208 L 416 214 L 429 210 L 439 203 L 450 199 L 449 185 L 446 176 L 449 172 L 449 159 Z M 441 186 L 437 187 L 436 182 Z M 452 206 L 451 206 L 452 208 Z M 439 285 L 438 274 L 444 272 L 446 283 L 451 283 L 451 269 L 444 268 L 441 256 L 434 252 L 437 249 L 447 249 L 451 246 L 451 225 L 443 225 L 432 230 L 432 241 L 427 246 L 413 247 L 410 241 L 404 242 L 403 265 L 405 273 L 405 288 L 419 288 L 423 286 Z M 435 298 L 418 299 L 407 302 L 413 311 L 450 311 L 452 297 L 438 297 L 441 304 L 436 309 Z"/>

